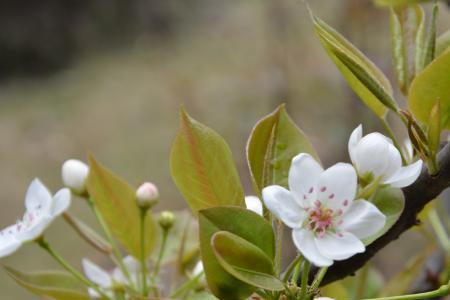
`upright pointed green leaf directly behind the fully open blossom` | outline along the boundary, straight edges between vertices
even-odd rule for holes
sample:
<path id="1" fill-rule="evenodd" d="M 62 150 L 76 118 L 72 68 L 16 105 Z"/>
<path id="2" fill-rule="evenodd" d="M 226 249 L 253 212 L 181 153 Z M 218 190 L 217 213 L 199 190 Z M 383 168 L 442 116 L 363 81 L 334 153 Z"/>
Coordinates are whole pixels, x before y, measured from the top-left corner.
<path id="1" fill-rule="evenodd" d="M 287 187 L 292 158 L 301 152 L 319 161 L 308 138 L 286 113 L 284 105 L 261 119 L 247 143 L 247 162 L 257 194 L 271 184 Z"/>

